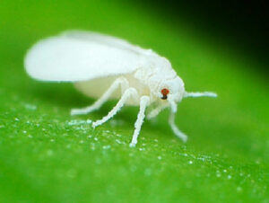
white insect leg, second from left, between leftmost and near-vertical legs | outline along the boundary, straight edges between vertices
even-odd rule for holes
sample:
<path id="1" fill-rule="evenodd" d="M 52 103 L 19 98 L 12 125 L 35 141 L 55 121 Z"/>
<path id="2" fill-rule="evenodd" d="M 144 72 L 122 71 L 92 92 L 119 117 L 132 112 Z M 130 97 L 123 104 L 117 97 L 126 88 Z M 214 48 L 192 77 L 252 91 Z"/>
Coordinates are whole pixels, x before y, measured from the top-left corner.
<path id="1" fill-rule="evenodd" d="M 120 110 L 126 103 L 128 99 L 132 96 L 137 96 L 136 90 L 131 87 L 126 90 L 126 92 L 122 95 L 120 100 L 117 102 L 116 106 L 108 112 L 107 116 L 104 116 L 102 119 L 96 120 L 95 122 L 92 123 L 92 127 L 95 128 L 97 126 L 100 126 L 104 122 L 108 121 L 108 119 L 111 119 L 114 117 L 117 113 L 118 110 Z"/>

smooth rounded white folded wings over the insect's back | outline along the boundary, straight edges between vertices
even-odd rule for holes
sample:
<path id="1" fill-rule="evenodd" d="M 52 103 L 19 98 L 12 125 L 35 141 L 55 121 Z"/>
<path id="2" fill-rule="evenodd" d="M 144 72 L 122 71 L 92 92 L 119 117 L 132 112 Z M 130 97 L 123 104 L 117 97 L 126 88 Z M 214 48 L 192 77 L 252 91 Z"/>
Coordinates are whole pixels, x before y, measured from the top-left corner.
<path id="1" fill-rule="evenodd" d="M 144 66 L 149 50 L 93 32 L 70 31 L 41 40 L 27 53 L 27 73 L 46 81 L 86 81 Z"/>

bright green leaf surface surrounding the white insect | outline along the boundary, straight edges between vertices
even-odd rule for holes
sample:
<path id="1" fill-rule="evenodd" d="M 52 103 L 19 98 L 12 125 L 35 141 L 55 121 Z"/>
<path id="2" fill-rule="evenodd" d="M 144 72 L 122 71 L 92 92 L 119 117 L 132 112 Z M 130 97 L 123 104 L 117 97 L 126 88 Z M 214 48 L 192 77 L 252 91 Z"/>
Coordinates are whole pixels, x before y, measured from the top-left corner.
<path id="1" fill-rule="evenodd" d="M 177 13 L 169 4 L 1 1 L 0 202 L 269 202 L 263 40 L 244 35 L 255 36 L 255 46 L 238 45 L 240 34 L 232 29 L 221 36 L 220 29 L 208 29 L 208 18 L 191 9 Z M 115 102 L 71 117 L 72 108 L 93 100 L 72 84 L 40 83 L 24 72 L 23 57 L 33 43 L 68 29 L 154 49 L 169 58 L 187 90 L 219 97 L 178 105 L 187 144 L 174 137 L 164 111 L 144 123 L 137 147 L 129 148 L 136 107 L 93 130 L 89 119 L 100 119 Z"/>

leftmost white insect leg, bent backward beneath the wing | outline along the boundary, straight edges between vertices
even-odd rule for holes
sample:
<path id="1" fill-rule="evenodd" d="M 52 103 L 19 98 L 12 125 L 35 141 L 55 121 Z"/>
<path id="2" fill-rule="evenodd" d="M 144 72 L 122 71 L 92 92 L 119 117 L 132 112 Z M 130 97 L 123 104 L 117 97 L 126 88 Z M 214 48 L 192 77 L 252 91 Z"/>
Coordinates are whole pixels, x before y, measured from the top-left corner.
<path id="1" fill-rule="evenodd" d="M 80 115 L 80 114 L 87 114 L 93 110 L 99 110 L 101 105 L 108 101 L 109 96 L 114 93 L 117 88 L 121 86 L 122 90 L 129 87 L 129 83 L 124 77 L 119 77 L 117 80 L 110 85 L 106 93 L 104 93 L 100 99 L 94 102 L 91 106 L 82 108 L 82 109 L 73 109 L 71 110 L 71 115 Z"/>

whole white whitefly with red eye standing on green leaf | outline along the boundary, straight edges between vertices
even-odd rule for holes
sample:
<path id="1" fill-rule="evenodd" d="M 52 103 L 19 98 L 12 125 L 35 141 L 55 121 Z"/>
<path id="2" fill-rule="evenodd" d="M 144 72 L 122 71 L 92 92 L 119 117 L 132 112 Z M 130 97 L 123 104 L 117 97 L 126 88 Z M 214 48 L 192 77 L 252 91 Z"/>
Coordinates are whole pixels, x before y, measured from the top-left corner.
<path id="1" fill-rule="evenodd" d="M 109 98 L 118 99 L 108 115 L 92 123 L 100 126 L 116 115 L 124 105 L 140 106 L 130 146 L 135 146 L 145 110 L 153 107 L 148 119 L 170 108 L 169 125 L 184 142 L 187 136 L 175 125 L 177 103 L 186 97 L 215 93 L 188 93 L 169 60 L 151 49 L 142 49 L 126 40 L 87 31 L 65 31 L 59 36 L 40 40 L 27 53 L 27 73 L 38 80 L 74 82 L 89 97 L 98 98 L 91 106 L 74 109 L 72 115 L 100 109 Z"/>

